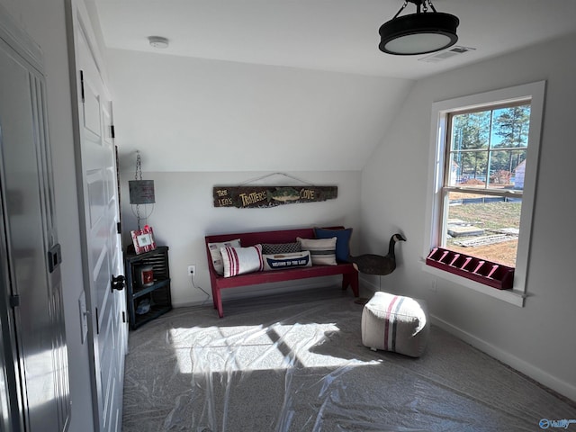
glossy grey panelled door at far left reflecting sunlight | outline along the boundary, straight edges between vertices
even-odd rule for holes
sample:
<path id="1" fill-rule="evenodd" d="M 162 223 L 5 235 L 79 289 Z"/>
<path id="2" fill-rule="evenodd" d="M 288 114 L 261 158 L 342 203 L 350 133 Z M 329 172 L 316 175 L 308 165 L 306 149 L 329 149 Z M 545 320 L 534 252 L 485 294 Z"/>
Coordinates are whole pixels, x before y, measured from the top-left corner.
<path id="1" fill-rule="evenodd" d="M 56 432 L 67 428 L 70 407 L 62 281 L 58 259 L 48 261 L 58 238 L 44 77 L 39 64 L 26 59 L 29 52 L 11 48 L 7 35 L 18 32 L 5 33 L 4 19 L 0 16 L 0 345 L 9 398 L 2 411 L 4 416 L 10 404 L 9 430 Z M 18 49 L 25 46 L 12 41 Z"/>

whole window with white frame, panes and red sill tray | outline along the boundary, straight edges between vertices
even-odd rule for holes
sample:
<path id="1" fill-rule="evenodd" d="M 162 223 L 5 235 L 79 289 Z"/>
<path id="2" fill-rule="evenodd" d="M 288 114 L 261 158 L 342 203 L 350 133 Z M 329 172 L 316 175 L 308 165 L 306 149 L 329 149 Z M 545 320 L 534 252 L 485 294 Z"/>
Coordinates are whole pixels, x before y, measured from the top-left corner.
<path id="1" fill-rule="evenodd" d="M 526 294 L 544 91 L 545 82 L 519 85 L 432 110 L 430 271 L 518 305 Z M 439 252 L 451 262 L 437 262 Z M 498 284 L 504 280 L 509 285 Z"/>

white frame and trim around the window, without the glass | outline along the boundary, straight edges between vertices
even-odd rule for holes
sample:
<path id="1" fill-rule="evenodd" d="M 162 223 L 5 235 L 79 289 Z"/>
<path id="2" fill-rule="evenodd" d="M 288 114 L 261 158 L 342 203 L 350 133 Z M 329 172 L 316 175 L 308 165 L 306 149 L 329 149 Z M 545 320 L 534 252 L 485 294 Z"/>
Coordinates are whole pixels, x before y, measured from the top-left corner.
<path id="1" fill-rule="evenodd" d="M 524 306 L 527 297 L 527 265 L 530 256 L 532 222 L 536 198 L 536 180 L 544 116 L 545 81 L 516 85 L 481 94 L 471 94 L 432 103 L 428 156 L 428 200 L 425 238 L 422 251 L 422 260 L 425 262 L 430 250 L 442 244 L 442 223 L 445 219 L 443 186 L 447 155 L 446 146 L 448 144 L 447 134 L 450 133 L 448 130 L 449 114 L 471 110 L 478 111 L 482 110 L 482 108 L 488 109 L 503 103 L 512 104 L 523 100 L 530 102 L 530 130 L 528 132 L 527 168 L 522 193 L 522 211 L 520 213 L 520 232 L 513 288 L 511 290 L 498 290 L 433 266 L 427 266 L 426 264 L 423 266 L 424 270 L 428 273 L 520 307 Z M 466 192 L 472 191 L 472 188 L 466 188 Z M 485 192 L 486 189 L 482 189 L 482 193 Z"/>

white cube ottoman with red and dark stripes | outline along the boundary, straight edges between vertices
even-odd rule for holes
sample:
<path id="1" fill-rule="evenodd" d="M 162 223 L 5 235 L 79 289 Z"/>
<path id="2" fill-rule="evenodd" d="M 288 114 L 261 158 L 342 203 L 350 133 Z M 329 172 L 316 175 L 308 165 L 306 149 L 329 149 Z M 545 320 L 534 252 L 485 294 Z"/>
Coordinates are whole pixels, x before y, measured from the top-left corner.
<path id="1" fill-rule="evenodd" d="M 362 343 L 371 349 L 419 357 L 428 345 L 428 310 L 421 300 L 374 293 L 362 311 Z"/>

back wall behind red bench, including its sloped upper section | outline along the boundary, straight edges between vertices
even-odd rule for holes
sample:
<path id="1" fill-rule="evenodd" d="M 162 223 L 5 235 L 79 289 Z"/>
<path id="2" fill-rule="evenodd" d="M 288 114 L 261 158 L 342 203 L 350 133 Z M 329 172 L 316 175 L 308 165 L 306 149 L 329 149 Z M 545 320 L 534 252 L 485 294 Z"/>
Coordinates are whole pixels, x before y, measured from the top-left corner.
<path id="1" fill-rule="evenodd" d="M 203 243 L 209 233 L 315 225 L 346 225 L 357 232 L 360 168 L 392 120 L 394 102 L 413 84 L 121 49 L 109 49 L 106 60 L 120 152 L 124 238 L 136 227 L 127 182 L 134 178 L 139 149 L 143 178 L 156 182 L 157 203 L 148 222 L 158 243 L 170 247 L 176 307 L 206 299 L 193 288 L 188 265 L 197 266 L 194 283 L 211 292 Z M 338 200 L 271 209 L 213 208 L 214 185 L 241 184 L 276 171 L 309 183 L 336 184 Z M 293 184 L 282 177 L 268 180 Z"/>

